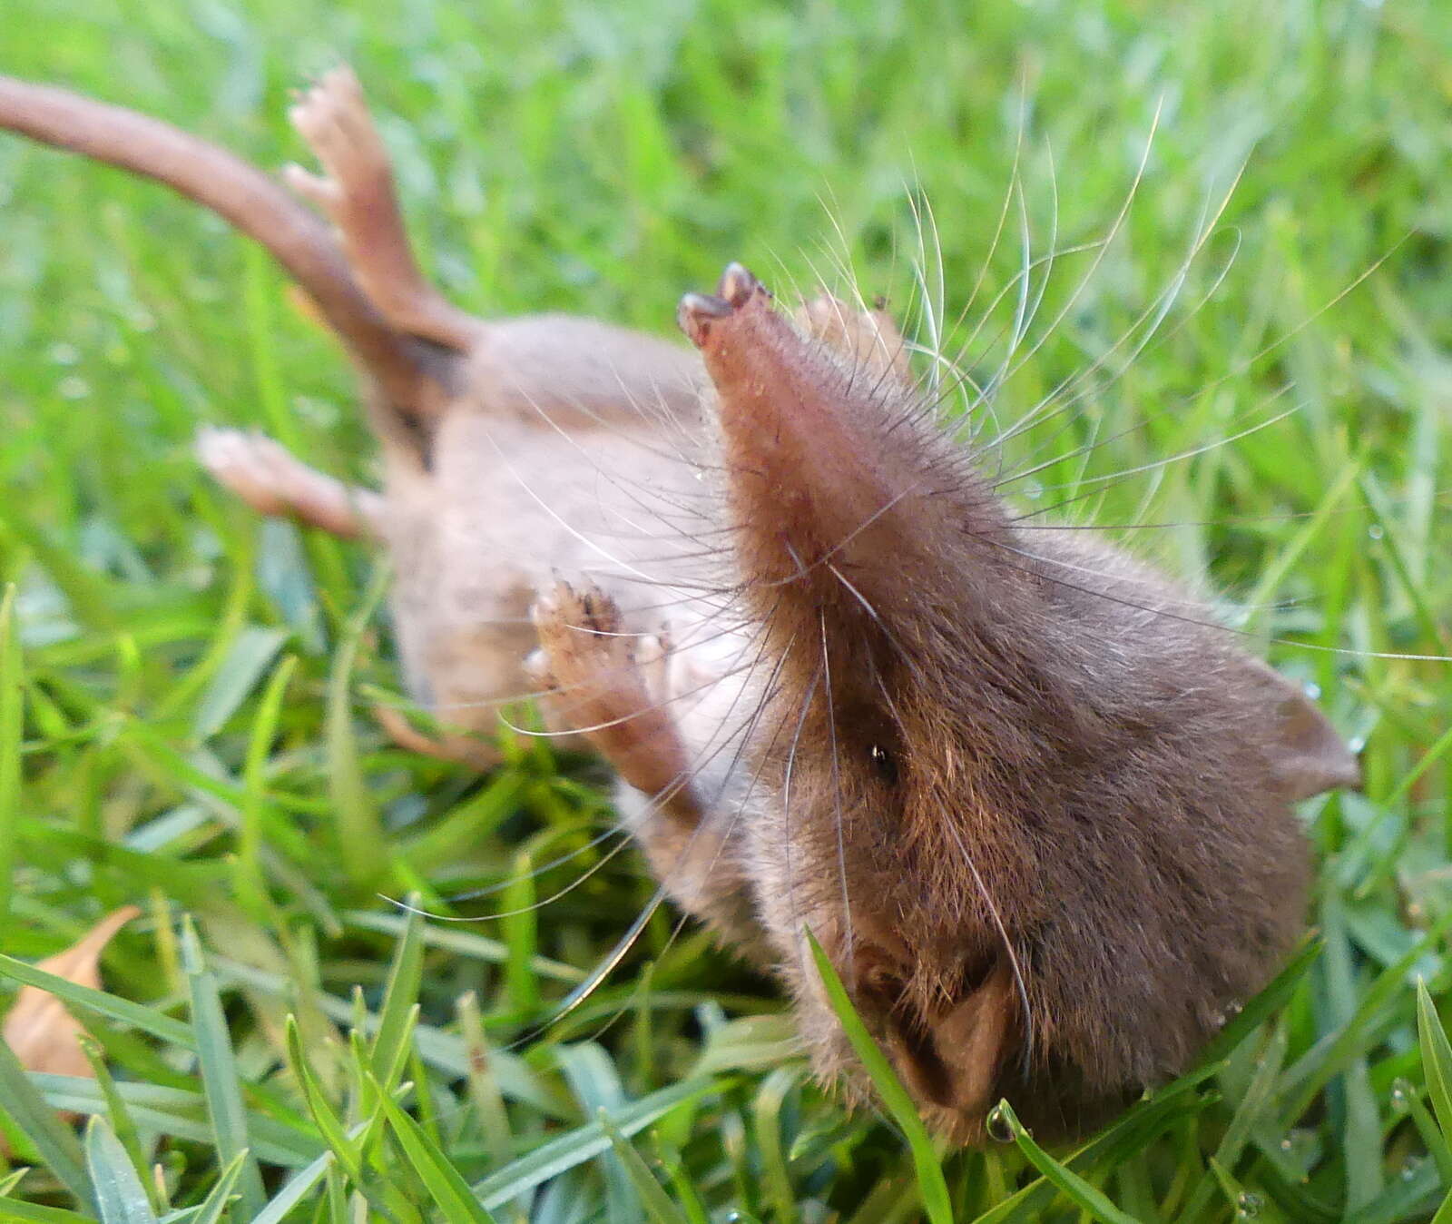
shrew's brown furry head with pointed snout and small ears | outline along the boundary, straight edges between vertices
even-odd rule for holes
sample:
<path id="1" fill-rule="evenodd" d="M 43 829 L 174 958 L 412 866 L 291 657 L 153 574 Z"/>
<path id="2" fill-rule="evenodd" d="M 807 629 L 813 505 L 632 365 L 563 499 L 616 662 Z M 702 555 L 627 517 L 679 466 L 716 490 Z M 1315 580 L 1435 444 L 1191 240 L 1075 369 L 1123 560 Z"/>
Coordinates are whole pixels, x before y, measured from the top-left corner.
<path id="1" fill-rule="evenodd" d="M 784 964 L 806 925 L 857 970 L 948 1128 L 977 1137 L 1008 1095 L 1077 1130 L 1265 984 L 1302 920 L 1291 804 L 1355 762 L 1170 581 L 1015 531 L 909 384 L 810 343 L 741 269 L 720 295 L 685 327 L 719 395 L 742 599 L 784 660 L 771 718 L 796 727 L 762 757 L 794 797 L 754 839 L 758 878 L 778 875 L 765 925 Z M 845 1057 L 829 1018 L 815 1036 Z"/>

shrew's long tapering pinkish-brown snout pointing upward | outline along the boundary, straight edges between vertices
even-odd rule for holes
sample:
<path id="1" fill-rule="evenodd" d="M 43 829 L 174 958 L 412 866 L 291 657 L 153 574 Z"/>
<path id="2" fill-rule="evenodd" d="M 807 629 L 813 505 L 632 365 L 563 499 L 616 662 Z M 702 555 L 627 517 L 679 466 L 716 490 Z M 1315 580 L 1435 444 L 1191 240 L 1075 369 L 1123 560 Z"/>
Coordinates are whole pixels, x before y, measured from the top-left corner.
<path id="1" fill-rule="evenodd" d="M 762 605 L 865 606 L 887 627 L 934 590 L 955 603 L 964 529 L 1002 513 L 902 372 L 799 331 L 736 263 L 678 320 L 716 388 L 735 548 Z"/>

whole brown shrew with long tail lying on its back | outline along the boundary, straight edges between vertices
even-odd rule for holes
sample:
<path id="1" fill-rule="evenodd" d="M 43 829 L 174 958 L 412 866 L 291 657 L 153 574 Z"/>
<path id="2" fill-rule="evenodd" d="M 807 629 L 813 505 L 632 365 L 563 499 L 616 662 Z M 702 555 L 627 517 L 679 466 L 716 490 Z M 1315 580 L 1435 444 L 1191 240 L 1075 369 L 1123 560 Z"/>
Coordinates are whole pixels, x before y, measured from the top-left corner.
<path id="1" fill-rule="evenodd" d="M 780 973 L 817 1070 L 858 1080 L 809 929 L 958 1138 L 1000 1095 L 1072 1132 L 1185 1068 L 1301 926 L 1292 804 L 1356 779 L 1304 696 L 1162 576 L 1016 529 L 883 315 L 794 324 L 733 265 L 681 304 L 704 371 L 591 320 L 473 320 L 421 279 L 351 76 L 296 121 L 327 174 L 289 182 L 341 247 L 192 137 L 0 78 L 0 125 L 218 208 L 344 337 L 382 499 L 242 435 L 203 454 L 258 509 L 392 551 L 452 750 L 547 677 L 636 785 L 666 888 Z"/>

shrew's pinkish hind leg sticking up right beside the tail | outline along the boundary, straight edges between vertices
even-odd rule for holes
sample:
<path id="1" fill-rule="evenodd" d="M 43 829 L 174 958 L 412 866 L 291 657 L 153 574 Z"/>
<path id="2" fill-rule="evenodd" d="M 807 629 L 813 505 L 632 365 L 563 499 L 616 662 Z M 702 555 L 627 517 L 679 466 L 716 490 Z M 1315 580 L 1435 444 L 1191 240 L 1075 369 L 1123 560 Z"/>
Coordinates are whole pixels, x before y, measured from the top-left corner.
<path id="1" fill-rule="evenodd" d="M 324 173 L 289 166 L 287 185 L 338 227 L 353 273 L 373 305 L 399 331 L 469 349 L 481 324 L 418 270 L 398 209 L 393 167 L 353 70 L 327 73 L 292 109 L 292 122 Z"/>

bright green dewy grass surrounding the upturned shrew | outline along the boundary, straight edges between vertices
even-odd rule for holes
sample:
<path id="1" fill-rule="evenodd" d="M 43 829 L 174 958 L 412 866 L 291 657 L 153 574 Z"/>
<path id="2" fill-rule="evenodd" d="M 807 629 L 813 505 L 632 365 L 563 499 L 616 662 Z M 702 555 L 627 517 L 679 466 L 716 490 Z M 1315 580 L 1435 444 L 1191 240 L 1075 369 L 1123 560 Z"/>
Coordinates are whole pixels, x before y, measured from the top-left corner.
<path id="1" fill-rule="evenodd" d="M 1365 746 L 1366 791 L 1308 805 L 1320 942 L 1205 1068 L 1077 1153 L 1006 1114 L 1011 1143 L 939 1153 L 923 1185 L 957 1220 L 1452 1218 L 1452 667 L 1394 657 L 1452 653 L 1452 10 L 9 0 L 0 42 L 0 70 L 267 166 L 301 153 L 287 89 L 340 57 L 470 308 L 666 331 L 727 259 L 787 286 L 845 251 L 922 334 L 926 201 L 950 320 L 987 267 L 980 377 L 1018 310 L 1019 199 L 1034 256 L 1105 235 L 1159 113 L 1115 243 L 1035 272 L 1025 347 L 1061 318 L 1000 419 L 1088 374 L 1021 440 L 1044 467 L 1015 496 L 1166 525 L 1111 534 L 1239 600 Z M 1180 279 L 1121 372 L 1117 339 Z M 203 422 L 372 472 L 343 361 L 263 256 L 0 138 L 0 990 L 148 911 L 109 993 L 71 990 L 113 1083 L 0 1058 L 0 1130 L 35 1166 L 0 1172 L 0 1218 L 922 1217 L 921 1150 L 841 1112 L 771 987 L 668 914 L 539 1031 L 652 893 L 591 840 L 601 775 L 540 743 L 482 779 L 391 747 L 376 560 L 222 497 Z M 103 1121 L 74 1138 L 51 1106 Z"/>

